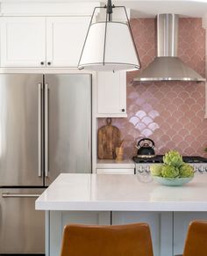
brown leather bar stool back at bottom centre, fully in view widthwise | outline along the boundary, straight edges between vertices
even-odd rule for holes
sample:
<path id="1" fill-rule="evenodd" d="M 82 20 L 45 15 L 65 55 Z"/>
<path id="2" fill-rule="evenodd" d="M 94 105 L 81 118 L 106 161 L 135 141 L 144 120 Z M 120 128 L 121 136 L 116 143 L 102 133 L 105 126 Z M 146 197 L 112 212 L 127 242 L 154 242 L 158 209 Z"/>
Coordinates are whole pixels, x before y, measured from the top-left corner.
<path id="1" fill-rule="evenodd" d="M 67 225 L 61 256 L 153 256 L 150 229 L 146 223 Z"/>

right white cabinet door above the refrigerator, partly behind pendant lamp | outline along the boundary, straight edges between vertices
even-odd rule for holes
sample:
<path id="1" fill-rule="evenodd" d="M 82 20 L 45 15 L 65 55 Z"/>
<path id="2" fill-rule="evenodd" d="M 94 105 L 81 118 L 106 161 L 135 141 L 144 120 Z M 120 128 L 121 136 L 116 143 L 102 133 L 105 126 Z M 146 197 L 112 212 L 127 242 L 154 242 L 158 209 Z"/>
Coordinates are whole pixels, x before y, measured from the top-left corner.
<path id="1" fill-rule="evenodd" d="M 89 20 L 89 17 L 46 18 L 47 66 L 77 67 Z"/>

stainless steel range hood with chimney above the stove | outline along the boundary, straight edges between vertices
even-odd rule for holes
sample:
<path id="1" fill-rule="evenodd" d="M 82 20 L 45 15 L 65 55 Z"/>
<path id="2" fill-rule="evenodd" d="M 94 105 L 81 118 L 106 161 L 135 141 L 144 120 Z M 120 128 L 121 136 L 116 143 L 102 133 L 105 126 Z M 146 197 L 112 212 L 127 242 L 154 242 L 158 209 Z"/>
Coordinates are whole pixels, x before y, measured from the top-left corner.
<path id="1" fill-rule="evenodd" d="M 178 16 L 157 15 L 157 57 L 134 81 L 205 81 L 177 57 Z"/>

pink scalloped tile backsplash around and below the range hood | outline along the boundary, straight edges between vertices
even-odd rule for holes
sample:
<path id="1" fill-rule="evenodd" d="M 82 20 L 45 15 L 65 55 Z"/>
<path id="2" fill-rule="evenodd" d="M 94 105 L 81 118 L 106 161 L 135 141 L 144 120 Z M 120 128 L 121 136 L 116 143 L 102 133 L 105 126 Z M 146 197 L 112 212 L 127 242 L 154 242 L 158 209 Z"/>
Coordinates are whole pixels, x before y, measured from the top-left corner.
<path id="1" fill-rule="evenodd" d="M 205 77 L 205 31 L 201 18 L 180 18 L 178 56 Z M 132 33 L 142 69 L 156 55 L 155 20 L 132 19 Z M 127 73 L 127 118 L 113 118 L 125 139 L 125 157 L 136 154 L 142 137 L 155 143 L 155 152 L 179 150 L 182 155 L 207 157 L 205 84 L 196 82 L 132 82 L 139 71 Z M 98 120 L 98 127 L 105 119 Z"/>

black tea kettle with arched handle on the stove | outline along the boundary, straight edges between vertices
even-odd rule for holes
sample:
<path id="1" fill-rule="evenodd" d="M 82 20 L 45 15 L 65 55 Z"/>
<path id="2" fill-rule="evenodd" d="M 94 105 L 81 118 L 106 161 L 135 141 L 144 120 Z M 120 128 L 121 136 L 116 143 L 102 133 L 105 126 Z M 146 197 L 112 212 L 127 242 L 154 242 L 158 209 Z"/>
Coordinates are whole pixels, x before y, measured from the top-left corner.
<path id="1" fill-rule="evenodd" d="M 139 140 L 138 145 L 135 146 L 138 149 L 137 157 L 155 157 L 154 142 L 151 139 L 143 138 Z"/>

